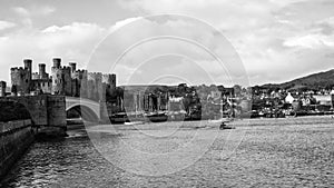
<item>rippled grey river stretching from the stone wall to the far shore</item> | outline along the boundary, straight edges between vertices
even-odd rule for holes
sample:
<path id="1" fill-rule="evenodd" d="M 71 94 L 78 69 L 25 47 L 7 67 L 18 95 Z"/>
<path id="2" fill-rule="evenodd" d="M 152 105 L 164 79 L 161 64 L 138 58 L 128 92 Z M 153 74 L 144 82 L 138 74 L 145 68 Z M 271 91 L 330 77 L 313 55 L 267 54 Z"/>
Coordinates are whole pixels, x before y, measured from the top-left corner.
<path id="1" fill-rule="evenodd" d="M 36 141 L 0 187 L 334 187 L 333 122 L 87 126 Z"/>

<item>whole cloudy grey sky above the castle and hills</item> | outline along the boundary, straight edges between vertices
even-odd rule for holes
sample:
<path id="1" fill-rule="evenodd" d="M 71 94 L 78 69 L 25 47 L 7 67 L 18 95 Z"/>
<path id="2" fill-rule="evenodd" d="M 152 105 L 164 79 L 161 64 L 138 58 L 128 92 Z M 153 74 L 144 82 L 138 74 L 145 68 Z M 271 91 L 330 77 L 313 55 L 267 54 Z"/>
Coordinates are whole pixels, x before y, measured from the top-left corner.
<path id="1" fill-rule="evenodd" d="M 333 10 L 333 0 L 1 0 L 0 80 L 26 58 L 50 72 L 60 57 L 117 85 L 279 83 L 334 68 Z"/>

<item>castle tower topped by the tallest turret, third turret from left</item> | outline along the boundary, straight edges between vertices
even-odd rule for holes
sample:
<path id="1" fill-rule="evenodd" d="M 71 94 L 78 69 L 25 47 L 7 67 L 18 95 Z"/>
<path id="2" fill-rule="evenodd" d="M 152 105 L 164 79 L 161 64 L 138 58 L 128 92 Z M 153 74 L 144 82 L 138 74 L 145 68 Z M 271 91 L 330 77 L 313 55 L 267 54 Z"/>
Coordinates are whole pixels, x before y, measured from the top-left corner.
<path id="1" fill-rule="evenodd" d="M 62 79 L 62 69 L 61 69 L 61 59 L 53 58 L 53 67 L 51 67 L 52 75 L 52 95 L 65 95 L 63 79 Z"/>

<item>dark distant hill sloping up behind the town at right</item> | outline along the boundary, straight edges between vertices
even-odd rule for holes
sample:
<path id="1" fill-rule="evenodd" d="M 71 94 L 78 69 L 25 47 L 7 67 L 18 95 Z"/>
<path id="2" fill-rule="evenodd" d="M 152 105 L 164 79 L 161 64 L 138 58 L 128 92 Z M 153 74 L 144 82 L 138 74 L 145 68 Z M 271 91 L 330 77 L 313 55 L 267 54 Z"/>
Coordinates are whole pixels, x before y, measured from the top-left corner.
<path id="1" fill-rule="evenodd" d="M 287 81 L 278 85 L 263 85 L 263 88 L 282 88 L 287 90 L 318 90 L 318 89 L 332 89 L 334 87 L 334 69 L 313 73 L 306 77 L 302 77 L 292 81 Z"/>

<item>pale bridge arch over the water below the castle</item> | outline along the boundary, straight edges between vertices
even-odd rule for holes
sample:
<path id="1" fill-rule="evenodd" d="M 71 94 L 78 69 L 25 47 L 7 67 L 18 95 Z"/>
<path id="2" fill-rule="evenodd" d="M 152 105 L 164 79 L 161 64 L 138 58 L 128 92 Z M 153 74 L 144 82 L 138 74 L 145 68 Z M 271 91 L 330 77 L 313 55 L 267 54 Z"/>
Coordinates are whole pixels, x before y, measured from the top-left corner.
<path id="1" fill-rule="evenodd" d="M 87 121 L 100 120 L 100 103 L 86 98 L 66 97 L 66 111 L 75 110 Z"/>

